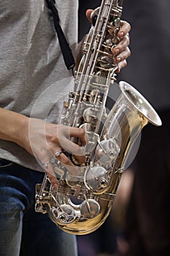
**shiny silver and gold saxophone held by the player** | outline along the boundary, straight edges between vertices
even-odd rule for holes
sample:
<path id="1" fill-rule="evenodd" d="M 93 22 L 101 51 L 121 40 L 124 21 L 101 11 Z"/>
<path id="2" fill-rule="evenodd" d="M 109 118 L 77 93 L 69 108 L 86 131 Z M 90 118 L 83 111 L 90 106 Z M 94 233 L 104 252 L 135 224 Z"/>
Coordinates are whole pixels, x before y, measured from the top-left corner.
<path id="1" fill-rule="evenodd" d="M 76 89 L 63 102 L 60 124 L 81 127 L 88 135 L 85 161 L 79 165 L 75 156 L 68 155 L 77 168 L 74 176 L 55 159 L 58 189 L 47 174 L 42 184 L 36 184 L 35 210 L 47 213 L 57 227 L 76 235 L 91 233 L 104 223 L 136 138 L 147 123 L 161 125 L 150 103 L 123 81 L 120 97 L 109 114 L 105 111 L 109 87 L 116 80 L 112 48 L 120 40 L 122 5 L 123 0 L 103 0 L 93 11 L 93 26 L 74 79 Z"/>

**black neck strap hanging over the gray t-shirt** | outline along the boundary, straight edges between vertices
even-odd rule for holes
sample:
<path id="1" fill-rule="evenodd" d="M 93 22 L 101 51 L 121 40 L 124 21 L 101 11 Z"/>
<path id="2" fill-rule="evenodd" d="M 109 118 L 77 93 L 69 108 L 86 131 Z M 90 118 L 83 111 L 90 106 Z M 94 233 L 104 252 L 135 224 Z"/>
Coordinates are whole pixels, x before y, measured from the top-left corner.
<path id="1" fill-rule="evenodd" d="M 47 7 L 51 10 L 53 14 L 54 27 L 58 35 L 58 42 L 61 47 L 61 52 L 63 54 L 63 60 L 66 64 L 67 69 L 73 69 L 75 66 L 74 57 L 72 54 L 72 50 L 69 48 L 69 43 L 66 41 L 66 37 L 63 34 L 63 30 L 61 29 L 58 10 L 55 7 L 55 0 L 46 0 L 46 1 L 47 1 Z"/>

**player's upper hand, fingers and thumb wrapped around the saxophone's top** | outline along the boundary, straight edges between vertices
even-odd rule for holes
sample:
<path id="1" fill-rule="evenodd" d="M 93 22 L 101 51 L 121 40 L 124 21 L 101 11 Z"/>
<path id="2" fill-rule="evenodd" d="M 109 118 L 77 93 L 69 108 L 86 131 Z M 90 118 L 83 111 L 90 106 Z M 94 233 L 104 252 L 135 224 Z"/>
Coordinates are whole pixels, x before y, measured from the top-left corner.
<path id="1" fill-rule="evenodd" d="M 87 10 L 86 16 L 89 21 L 90 15 L 93 12 L 93 10 Z M 131 26 L 128 22 L 122 21 L 122 26 L 120 28 L 120 31 L 118 31 L 117 36 L 120 38 L 120 42 L 117 44 L 117 46 L 113 49 L 113 58 L 114 62 L 117 64 L 117 73 L 120 72 L 120 70 L 127 65 L 126 59 L 128 59 L 129 56 L 131 56 L 131 51 L 128 48 L 128 45 L 130 43 L 130 39 L 128 36 L 129 31 L 131 30 Z"/>

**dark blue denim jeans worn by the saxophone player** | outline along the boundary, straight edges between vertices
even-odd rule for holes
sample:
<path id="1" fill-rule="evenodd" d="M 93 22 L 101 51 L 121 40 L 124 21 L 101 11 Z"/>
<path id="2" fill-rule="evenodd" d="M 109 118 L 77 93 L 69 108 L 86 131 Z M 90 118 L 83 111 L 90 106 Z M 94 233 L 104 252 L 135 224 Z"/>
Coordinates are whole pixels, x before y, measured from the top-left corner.
<path id="1" fill-rule="evenodd" d="M 0 255 L 75 256 L 76 237 L 34 211 L 43 173 L 0 159 Z"/>

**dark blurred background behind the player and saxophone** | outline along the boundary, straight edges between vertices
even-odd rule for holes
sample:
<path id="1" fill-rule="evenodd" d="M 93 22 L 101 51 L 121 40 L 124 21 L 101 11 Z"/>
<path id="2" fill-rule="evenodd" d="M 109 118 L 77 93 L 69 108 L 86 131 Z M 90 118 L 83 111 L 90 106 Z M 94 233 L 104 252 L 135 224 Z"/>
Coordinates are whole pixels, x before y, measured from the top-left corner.
<path id="1" fill-rule="evenodd" d="M 88 33 L 85 11 L 101 0 L 80 0 L 79 39 Z M 162 127 L 148 124 L 133 164 L 123 173 L 107 221 L 77 236 L 79 256 L 170 255 L 170 1 L 128 0 L 131 57 L 117 75 L 139 90 L 158 112 Z"/>

